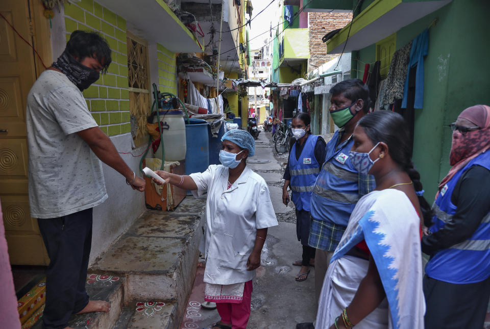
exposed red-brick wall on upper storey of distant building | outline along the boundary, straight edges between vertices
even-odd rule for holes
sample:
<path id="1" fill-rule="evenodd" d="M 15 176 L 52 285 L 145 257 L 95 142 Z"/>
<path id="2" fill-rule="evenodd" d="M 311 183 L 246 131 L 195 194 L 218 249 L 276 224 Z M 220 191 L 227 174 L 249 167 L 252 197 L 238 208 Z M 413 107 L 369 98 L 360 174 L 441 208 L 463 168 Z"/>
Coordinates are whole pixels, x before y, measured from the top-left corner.
<path id="1" fill-rule="evenodd" d="M 337 57 L 327 54 L 327 45 L 322 38 L 330 31 L 341 29 L 352 19 L 351 13 L 308 13 L 308 27 L 310 33 L 310 59 L 308 71 Z"/>

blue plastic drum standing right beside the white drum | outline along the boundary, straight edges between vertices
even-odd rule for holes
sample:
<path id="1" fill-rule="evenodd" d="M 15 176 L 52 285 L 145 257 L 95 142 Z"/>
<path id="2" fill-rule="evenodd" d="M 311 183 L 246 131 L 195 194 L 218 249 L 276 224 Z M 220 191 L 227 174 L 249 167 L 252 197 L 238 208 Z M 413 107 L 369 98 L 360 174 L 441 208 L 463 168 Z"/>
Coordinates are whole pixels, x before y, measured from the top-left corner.
<path id="1" fill-rule="evenodd" d="M 203 172 L 209 166 L 209 124 L 203 119 L 185 121 L 187 152 L 185 155 L 185 174 Z"/>

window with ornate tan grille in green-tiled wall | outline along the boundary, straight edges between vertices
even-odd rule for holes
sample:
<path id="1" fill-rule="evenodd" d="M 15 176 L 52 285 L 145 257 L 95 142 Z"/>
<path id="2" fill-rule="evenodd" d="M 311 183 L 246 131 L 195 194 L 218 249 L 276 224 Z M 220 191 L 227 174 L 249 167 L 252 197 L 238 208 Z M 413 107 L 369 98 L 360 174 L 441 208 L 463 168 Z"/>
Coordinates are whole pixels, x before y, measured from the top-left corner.
<path id="1" fill-rule="evenodd" d="M 128 45 L 129 112 L 131 134 L 136 146 L 145 142 L 148 135 L 146 117 L 150 113 L 150 73 L 146 41 L 130 34 Z"/>

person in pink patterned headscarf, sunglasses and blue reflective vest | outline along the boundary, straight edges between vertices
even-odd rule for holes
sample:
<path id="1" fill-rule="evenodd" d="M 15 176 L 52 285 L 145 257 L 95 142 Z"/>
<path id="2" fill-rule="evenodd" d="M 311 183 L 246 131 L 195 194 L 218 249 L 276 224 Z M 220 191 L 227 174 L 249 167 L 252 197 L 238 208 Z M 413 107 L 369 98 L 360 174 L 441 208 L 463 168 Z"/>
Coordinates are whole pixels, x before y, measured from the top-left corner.
<path id="1" fill-rule="evenodd" d="M 482 328 L 490 298 L 490 107 L 451 123 L 448 175 L 439 184 L 422 251 L 426 328 Z"/>

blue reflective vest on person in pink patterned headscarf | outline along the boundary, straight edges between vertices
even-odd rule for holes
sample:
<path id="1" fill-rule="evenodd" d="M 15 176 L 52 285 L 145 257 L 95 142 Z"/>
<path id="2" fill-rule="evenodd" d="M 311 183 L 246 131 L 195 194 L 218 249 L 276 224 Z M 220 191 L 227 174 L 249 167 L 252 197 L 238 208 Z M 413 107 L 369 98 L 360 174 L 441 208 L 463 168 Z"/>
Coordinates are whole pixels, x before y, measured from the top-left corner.
<path id="1" fill-rule="evenodd" d="M 490 151 L 470 161 L 440 190 L 432 207 L 435 215 L 431 232 L 442 229 L 456 213 L 456 206 L 451 202 L 454 187 L 463 172 L 475 165 L 490 170 Z M 468 240 L 438 251 L 427 263 L 425 272 L 433 279 L 454 284 L 481 282 L 490 276 L 490 213 L 483 217 Z"/>

